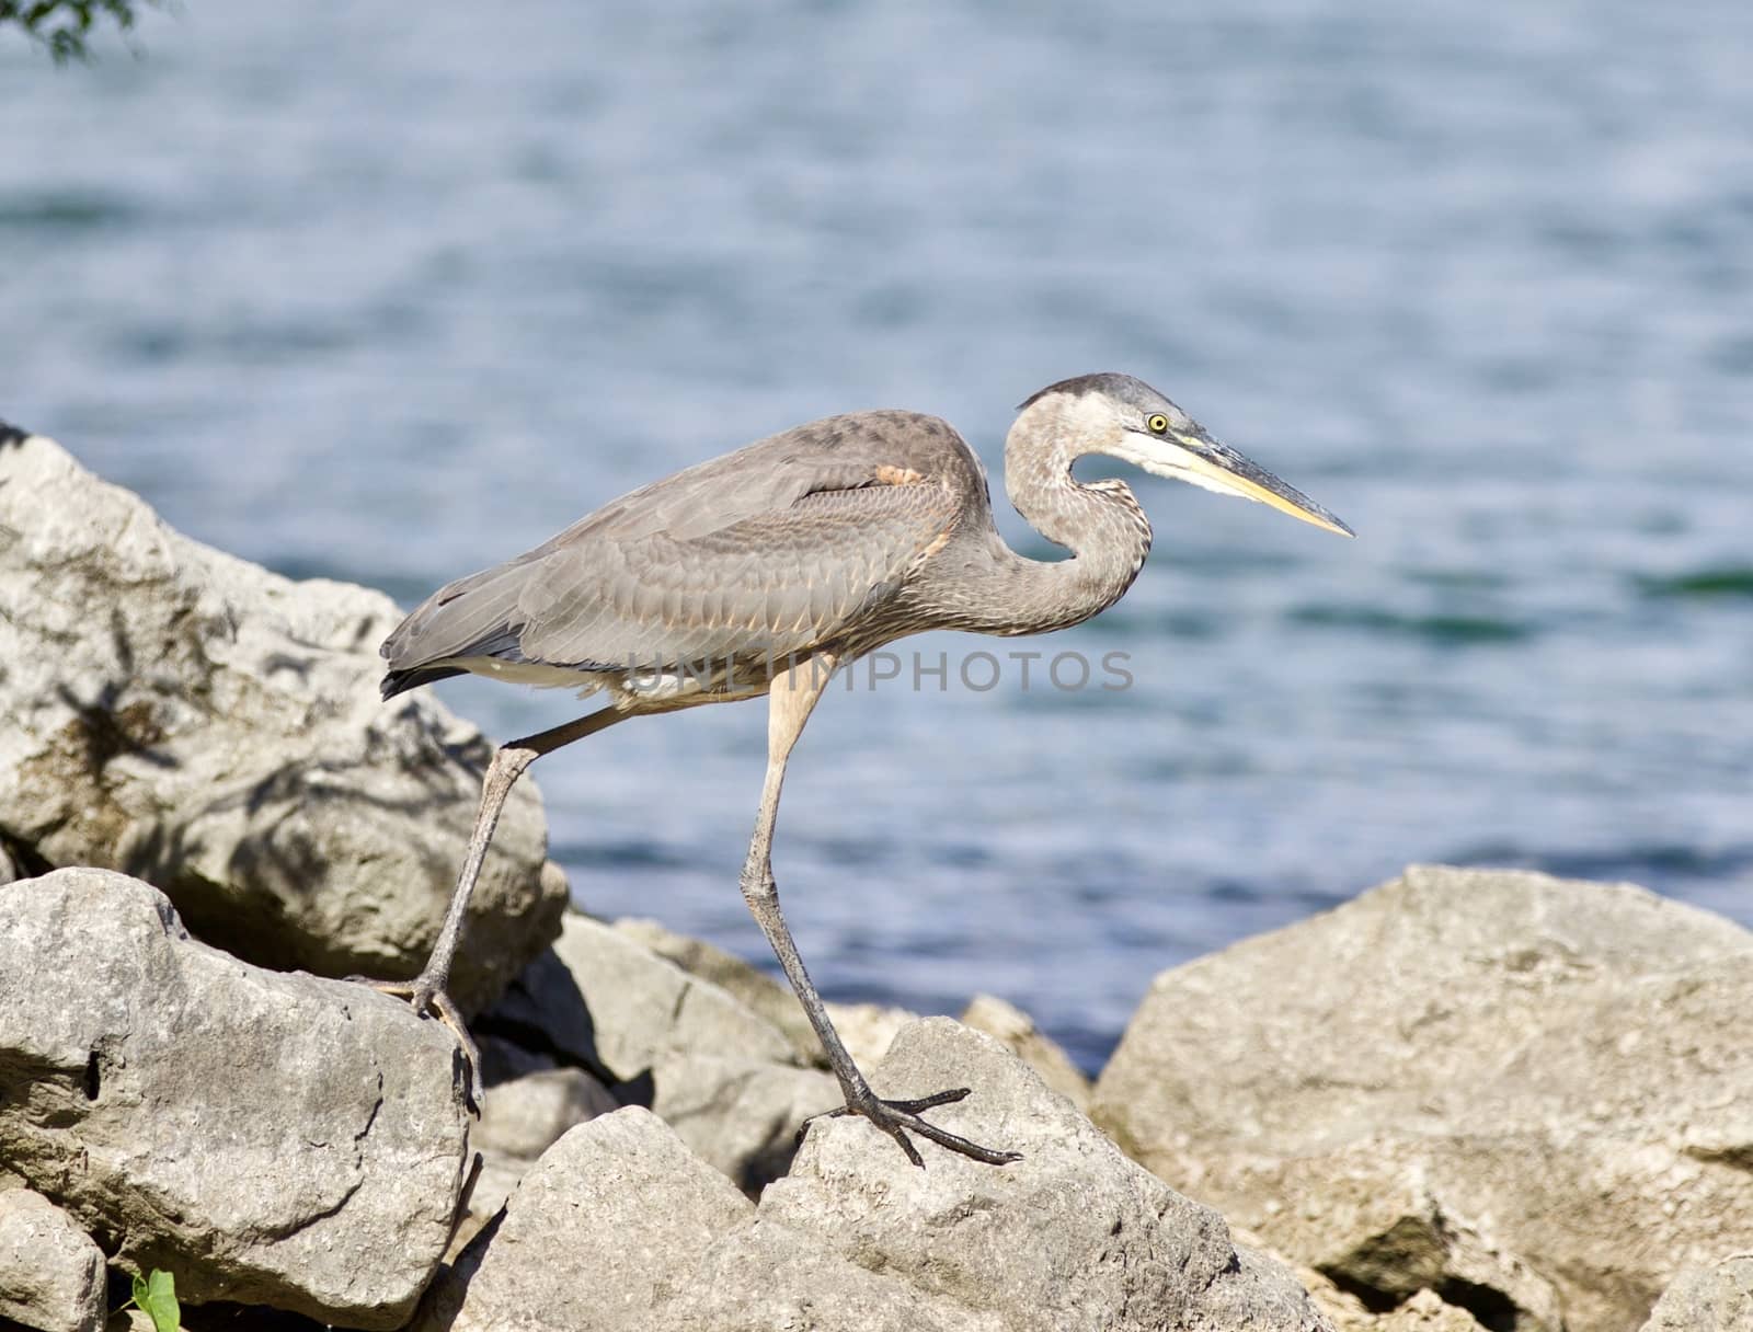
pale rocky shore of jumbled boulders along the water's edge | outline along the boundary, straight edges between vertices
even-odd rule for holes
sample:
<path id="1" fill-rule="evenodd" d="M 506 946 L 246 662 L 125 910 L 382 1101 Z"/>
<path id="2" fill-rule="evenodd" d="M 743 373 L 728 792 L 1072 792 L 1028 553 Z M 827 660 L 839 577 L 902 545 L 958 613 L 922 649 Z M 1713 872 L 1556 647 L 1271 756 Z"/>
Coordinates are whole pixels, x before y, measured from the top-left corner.
<path id="1" fill-rule="evenodd" d="M 479 1118 L 410 974 L 489 747 L 289 582 L 0 429 L 0 1327 L 1753 1328 L 1753 932 L 1413 868 L 1164 971 L 1099 1080 L 1027 1015 L 836 1013 L 566 908 L 526 783 L 468 922 Z M 808 1120 L 808 1123 L 806 1123 Z M 799 1146 L 799 1129 L 803 1129 Z M 11 1321 L 9 1321 L 11 1320 Z"/>

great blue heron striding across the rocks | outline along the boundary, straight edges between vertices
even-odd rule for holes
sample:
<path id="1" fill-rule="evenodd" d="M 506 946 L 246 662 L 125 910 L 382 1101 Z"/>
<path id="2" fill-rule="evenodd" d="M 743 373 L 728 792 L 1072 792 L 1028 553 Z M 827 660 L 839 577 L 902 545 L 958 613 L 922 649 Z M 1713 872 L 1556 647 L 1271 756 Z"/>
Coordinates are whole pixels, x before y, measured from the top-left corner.
<path id="1" fill-rule="evenodd" d="M 512 783 L 540 755 L 628 717 L 770 694 L 766 783 L 742 889 L 845 1092 L 834 1113 L 871 1120 L 915 1166 L 910 1130 L 976 1160 L 1015 1160 L 922 1116 L 968 1088 L 917 1101 L 871 1092 L 780 915 L 773 820 L 785 759 L 836 666 L 924 629 L 1064 629 L 1131 587 L 1150 550 L 1150 522 L 1125 482 L 1071 475 L 1085 454 L 1352 535 L 1148 384 L 1083 375 L 1024 401 L 1004 442 L 1011 503 L 1069 559 L 1026 559 L 1004 543 L 985 470 L 948 424 L 917 412 L 855 412 L 633 491 L 535 550 L 442 587 L 401 622 L 382 647 L 386 699 L 465 671 L 608 699 L 494 754 L 431 957 L 415 980 L 382 985 L 456 1031 L 477 1104 L 479 1059 L 445 985 Z"/>

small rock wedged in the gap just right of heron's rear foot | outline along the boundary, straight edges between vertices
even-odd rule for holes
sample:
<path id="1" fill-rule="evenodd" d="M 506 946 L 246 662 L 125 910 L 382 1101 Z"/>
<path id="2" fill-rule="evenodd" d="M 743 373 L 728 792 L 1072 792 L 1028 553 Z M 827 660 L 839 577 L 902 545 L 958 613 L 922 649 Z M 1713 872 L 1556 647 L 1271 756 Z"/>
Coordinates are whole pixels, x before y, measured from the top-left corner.
<path id="1" fill-rule="evenodd" d="M 584 1069 L 561 1067 L 493 1036 L 482 1036 L 479 1046 L 487 1092 L 470 1144 L 480 1151 L 480 1173 L 468 1192 L 468 1215 L 451 1237 L 452 1253 L 493 1220 L 517 1181 L 568 1129 L 621 1108 L 614 1092 Z"/>

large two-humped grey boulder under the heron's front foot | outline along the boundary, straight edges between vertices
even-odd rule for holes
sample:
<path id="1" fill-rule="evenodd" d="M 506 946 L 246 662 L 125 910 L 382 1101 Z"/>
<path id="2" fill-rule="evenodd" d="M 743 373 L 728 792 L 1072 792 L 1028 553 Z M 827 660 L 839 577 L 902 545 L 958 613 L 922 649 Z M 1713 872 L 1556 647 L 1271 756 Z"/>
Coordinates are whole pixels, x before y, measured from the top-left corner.
<path id="1" fill-rule="evenodd" d="M 435 1286 L 421 1332 L 1329 1332 L 1290 1272 L 1125 1160 L 997 1041 L 913 1024 L 885 1095 L 966 1083 L 945 1127 L 1018 1150 L 982 1166 L 817 1120 L 750 1208 L 675 1134 L 619 1111 L 573 1129 Z"/>

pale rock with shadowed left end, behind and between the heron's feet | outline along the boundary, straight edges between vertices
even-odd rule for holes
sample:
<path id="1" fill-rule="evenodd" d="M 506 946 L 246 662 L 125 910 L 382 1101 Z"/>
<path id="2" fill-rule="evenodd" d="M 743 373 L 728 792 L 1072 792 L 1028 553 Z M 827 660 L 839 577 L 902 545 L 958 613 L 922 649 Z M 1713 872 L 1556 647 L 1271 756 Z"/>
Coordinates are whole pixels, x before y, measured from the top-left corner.
<path id="1" fill-rule="evenodd" d="M 841 1101 L 726 990 L 577 913 L 486 1020 L 614 1081 L 649 1080 L 650 1109 L 749 1192 L 784 1173 L 805 1118 Z"/>

